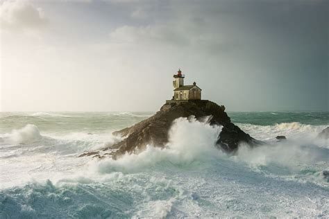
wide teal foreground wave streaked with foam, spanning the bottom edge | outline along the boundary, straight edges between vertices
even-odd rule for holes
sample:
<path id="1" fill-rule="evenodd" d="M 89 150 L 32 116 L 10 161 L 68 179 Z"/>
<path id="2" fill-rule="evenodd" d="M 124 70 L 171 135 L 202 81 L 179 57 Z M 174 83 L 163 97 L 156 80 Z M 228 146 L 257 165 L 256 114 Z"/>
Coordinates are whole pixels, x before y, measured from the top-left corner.
<path id="1" fill-rule="evenodd" d="M 328 216 L 328 191 L 317 186 L 282 182 L 235 164 L 217 162 L 202 170 L 145 170 L 111 173 L 107 178 L 95 175 L 94 180 L 30 182 L 0 191 L 0 218 Z"/>

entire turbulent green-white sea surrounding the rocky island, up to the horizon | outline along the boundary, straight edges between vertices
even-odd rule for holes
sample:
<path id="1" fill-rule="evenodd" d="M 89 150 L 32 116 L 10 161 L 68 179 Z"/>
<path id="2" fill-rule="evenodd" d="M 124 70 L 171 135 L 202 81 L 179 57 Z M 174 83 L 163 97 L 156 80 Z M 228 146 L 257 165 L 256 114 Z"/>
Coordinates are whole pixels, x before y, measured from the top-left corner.
<path id="1" fill-rule="evenodd" d="M 234 156 L 221 127 L 178 119 L 164 150 L 78 158 L 151 114 L 0 113 L 0 218 L 329 217 L 328 112 L 229 112 L 267 143 Z"/>

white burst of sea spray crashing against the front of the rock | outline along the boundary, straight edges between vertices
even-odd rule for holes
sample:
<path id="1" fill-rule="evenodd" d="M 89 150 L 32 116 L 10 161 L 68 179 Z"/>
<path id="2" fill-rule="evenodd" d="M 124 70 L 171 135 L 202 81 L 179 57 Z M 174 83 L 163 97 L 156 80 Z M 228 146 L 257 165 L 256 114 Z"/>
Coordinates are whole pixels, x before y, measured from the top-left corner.
<path id="1" fill-rule="evenodd" d="M 209 119 L 197 121 L 194 117 L 176 119 L 169 130 L 166 148 L 146 146 L 139 154 L 125 154 L 120 159 L 100 161 L 99 172 L 135 172 L 160 161 L 173 164 L 189 164 L 197 159 L 212 159 L 219 155 L 215 143 L 221 127 L 210 125 Z"/>

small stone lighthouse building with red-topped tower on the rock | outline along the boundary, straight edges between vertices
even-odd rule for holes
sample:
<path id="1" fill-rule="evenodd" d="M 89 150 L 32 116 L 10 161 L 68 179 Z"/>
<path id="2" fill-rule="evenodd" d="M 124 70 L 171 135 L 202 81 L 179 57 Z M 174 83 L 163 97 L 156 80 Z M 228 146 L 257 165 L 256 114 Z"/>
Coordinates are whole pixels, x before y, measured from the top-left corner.
<path id="1" fill-rule="evenodd" d="M 201 100 L 201 88 L 193 85 L 184 85 L 185 75 L 178 69 L 177 74 L 174 75 L 174 96 L 172 100 Z"/>

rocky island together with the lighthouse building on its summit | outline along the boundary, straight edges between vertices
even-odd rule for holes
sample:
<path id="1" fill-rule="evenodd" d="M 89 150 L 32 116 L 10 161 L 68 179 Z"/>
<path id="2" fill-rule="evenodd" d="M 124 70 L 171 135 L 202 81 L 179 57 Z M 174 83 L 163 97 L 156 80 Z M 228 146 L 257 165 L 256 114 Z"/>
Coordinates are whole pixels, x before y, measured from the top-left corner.
<path id="1" fill-rule="evenodd" d="M 196 82 L 193 85 L 184 85 L 184 78 L 180 70 L 174 75 L 174 96 L 166 101 L 159 112 L 136 125 L 113 133 L 124 137 L 124 140 L 103 148 L 103 153 L 87 152 L 81 157 L 93 155 L 103 158 L 105 155 L 112 155 L 113 159 L 117 159 L 125 153 L 141 152 L 147 145 L 164 148 L 168 143 L 168 133 L 173 121 L 189 116 L 194 116 L 199 121 L 208 118 L 210 125 L 221 125 L 217 148 L 226 152 L 235 152 L 242 142 L 250 146 L 262 143 L 233 124 L 223 105 L 217 105 L 210 100 L 201 100 L 201 89 L 196 86 Z"/>

